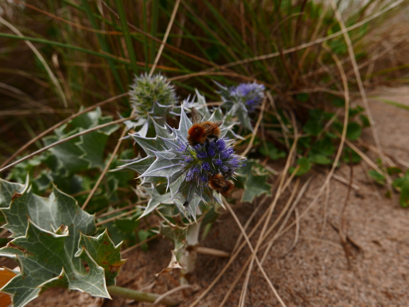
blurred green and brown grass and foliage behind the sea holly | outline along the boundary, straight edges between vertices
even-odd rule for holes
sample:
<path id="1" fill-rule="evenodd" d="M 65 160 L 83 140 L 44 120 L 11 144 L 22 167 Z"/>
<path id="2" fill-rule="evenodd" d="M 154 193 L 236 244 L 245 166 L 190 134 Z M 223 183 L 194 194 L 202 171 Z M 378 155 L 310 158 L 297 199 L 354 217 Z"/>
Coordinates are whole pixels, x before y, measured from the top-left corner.
<path id="1" fill-rule="evenodd" d="M 393 3 L 392 9 L 384 10 Z M 346 27 L 352 27 L 348 35 L 368 91 L 409 82 L 408 3 L 337 3 Z M 285 132 L 277 114 L 288 127 L 292 125 L 289 132 L 294 133 L 299 125 L 317 136 L 337 109 L 344 106 L 342 78 L 334 59 L 342 63 L 348 78 L 353 103 L 350 115 L 363 110 L 354 104 L 360 94 L 347 43 L 332 7 L 325 1 L 7 0 L 0 4 L 0 162 L 81 108 L 127 92 L 134 74 L 149 73 L 175 4 L 175 19 L 155 73 L 172 81 L 180 99 L 193 95 L 197 88 L 208 102 L 220 101 L 212 80 L 228 86 L 253 81 L 264 84 L 278 109 L 268 106 L 260 132 L 277 130 L 268 137 L 280 152 L 273 148 L 270 157 L 274 153 L 285 156 L 281 152 L 288 152 L 290 145 L 283 138 Z M 377 17 L 366 22 L 374 14 Z M 70 135 L 119 119 L 120 115 L 129 116 L 131 108 L 124 96 L 94 112 L 61 127 L 56 136 L 49 138 Z M 369 125 L 363 115 L 358 122 L 362 127 Z M 319 127 L 316 133 L 314 125 Z M 31 177 L 37 178 L 40 194 L 47 194 L 54 181 L 81 204 L 117 145 L 120 131 L 110 129 L 105 136 L 98 136 L 102 140 L 98 148 L 92 149 L 96 161 L 92 165 L 80 161 L 75 166 L 64 166 L 63 153 L 54 151 L 19 164 L 2 176 L 24 181 L 29 171 Z M 300 143 L 313 150 L 310 140 L 300 139 Z M 48 144 L 47 138 L 43 143 L 38 139 L 19 156 L 43 144 Z M 76 141 L 71 145 L 76 146 Z M 87 151 L 84 146 L 75 150 Z M 75 151 L 72 154 L 80 155 Z M 123 142 L 109 168 L 119 166 L 118 159 L 137 154 L 132 142 Z M 47 168 L 51 172 L 44 171 Z M 133 172 L 108 173 L 87 210 L 102 212 L 108 205 L 125 207 L 140 201 L 132 191 L 135 177 Z M 129 233 L 139 227 L 137 214 L 127 218 L 132 230 L 127 228 Z M 150 222 L 143 221 L 145 229 Z M 138 235 L 141 241 L 148 236 L 144 232 Z M 133 242 L 137 239 L 129 238 Z"/>

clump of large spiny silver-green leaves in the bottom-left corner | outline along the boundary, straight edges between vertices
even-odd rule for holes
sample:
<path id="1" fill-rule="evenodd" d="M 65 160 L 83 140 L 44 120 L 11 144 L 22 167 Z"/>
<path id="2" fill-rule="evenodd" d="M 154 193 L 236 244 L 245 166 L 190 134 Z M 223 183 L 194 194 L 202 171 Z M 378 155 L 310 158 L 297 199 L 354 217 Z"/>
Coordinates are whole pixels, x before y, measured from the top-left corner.
<path id="1" fill-rule="evenodd" d="M 12 296 L 13 306 L 24 306 L 49 288 L 79 290 L 110 298 L 124 260 L 106 230 L 97 238 L 94 215 L 83 211 L 55 186 L 48 198 L 24 185 L 0 179 L 2 213 L 14 238 L 0 255 L 14 259 L 20 272 L 0 289 Z M 84 262 L 89 268 L 85 270 Z"/>

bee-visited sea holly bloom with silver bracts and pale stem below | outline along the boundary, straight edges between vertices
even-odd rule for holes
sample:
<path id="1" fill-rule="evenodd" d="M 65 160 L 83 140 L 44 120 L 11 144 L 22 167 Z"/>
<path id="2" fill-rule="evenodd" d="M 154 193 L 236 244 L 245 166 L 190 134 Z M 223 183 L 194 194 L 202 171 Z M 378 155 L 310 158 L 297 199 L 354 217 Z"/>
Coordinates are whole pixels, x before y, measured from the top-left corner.
<path id="1" fill-rule="evenodd" d="M 208 120 L 215 116 L 216 112 Z M 142 216 L 155 210 L 162 217 L 161 232 L 174 241 L 174 253 L 183 268 L 181 282 L 186 282 L 194 268 L 201 222 L 223 206 L 222 196 L 209 186 L 210 177 L 219 174 L 227 181 L 245 166 L 245 159 L 235 154 L 232 140 L 225 137 L 228 129 L 221 127 L 218 139 L 191 146 L 187 140 L 191 126 L 181 109 L 178 129 L 154 123 L 154 138 L 132 134 L 147 157 L 124 166 L 140 172 L 141 185 L 151 194 Z"/>

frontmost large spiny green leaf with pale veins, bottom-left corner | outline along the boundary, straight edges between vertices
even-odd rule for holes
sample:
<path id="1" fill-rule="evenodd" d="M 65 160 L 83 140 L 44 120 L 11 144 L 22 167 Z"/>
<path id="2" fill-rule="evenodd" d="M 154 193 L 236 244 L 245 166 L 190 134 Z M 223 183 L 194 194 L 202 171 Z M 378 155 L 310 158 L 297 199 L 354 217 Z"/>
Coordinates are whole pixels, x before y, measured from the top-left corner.
<path id="1" fill-rule="evenodd" d="M 67 228 L 62 230 L 59 227 L 55 231 L 57 234 L 41 229 L 30 219 L 28 221 L 26 234 L 0 249 L 0 255 L 15 259 L 20 267 L 20 273 L 1 289 L 13 296 L 14 307 L 26 305 L 41 292 L 55 286 L 110 298 L 104 269 L 84 247 L 78 256 L 88 263 L 89 272 L 80 272 L 74 267 L 71 255 L 65 249 L 65 241 L 70 238 Z"/>

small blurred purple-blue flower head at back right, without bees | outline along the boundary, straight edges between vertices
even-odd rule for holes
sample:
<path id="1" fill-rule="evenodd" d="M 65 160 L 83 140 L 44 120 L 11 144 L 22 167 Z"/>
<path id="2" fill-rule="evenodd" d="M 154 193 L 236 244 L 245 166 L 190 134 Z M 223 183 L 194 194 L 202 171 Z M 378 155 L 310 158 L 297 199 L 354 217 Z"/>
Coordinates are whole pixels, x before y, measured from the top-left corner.
<path id="1" fill-rule="evenodd" d="M 265 86 L 263 84 L 241 83 L 229 89 L 230 96 L 234 101 L 242 101 L 249 112 L 253 112 L 264 97 Z"/>

